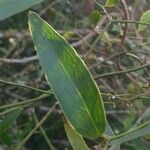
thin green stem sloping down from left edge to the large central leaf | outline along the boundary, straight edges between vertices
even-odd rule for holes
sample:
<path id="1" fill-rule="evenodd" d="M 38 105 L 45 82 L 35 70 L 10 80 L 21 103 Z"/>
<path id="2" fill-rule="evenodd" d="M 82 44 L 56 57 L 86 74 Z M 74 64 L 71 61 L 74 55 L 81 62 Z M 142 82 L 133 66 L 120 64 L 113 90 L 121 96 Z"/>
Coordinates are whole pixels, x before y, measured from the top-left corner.
<path id="1" fill-rule="evenodd" d="M 20 84 L 20 83 L 14 83 L 14 82 L 11 82 L 11 81 L 5 81 L 5 80 L 2 80 L 2 79 L 0 79 L 0 83 L 9 84 L 9 85 L 13 85 L 13 86 L 19 86 L 19 87 L 22 87 L 22 88 L 38 91 L 38 92 L 41 92 L 41 93 L 52 94 L 52 92 L 50 92 L 50 91 L 45 91 L 45 90 L 41 90 L 41 89 L 31 87 L 31 86 L 28 86 L 28 85 L 23 85 L 23 84 Z"/>

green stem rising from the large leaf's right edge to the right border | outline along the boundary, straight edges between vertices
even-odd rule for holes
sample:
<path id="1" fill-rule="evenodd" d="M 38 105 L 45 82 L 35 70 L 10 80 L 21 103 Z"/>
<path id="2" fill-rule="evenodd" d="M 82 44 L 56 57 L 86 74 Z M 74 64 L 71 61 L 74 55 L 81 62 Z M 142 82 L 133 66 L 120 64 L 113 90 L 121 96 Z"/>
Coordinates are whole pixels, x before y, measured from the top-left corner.
<path id="1" fill-rule="evenodd" d="M 141 69 L 146 68 L 146 67 L 149 67 L 149 66 L 150 66 L 150 63 L 141 65 L 141 66 L 139 66 L 139 67 L 134 67 L 134 68 L 131 68 L 131 69 L 128 69 L 128 70 L 122 70 L 122 71 L 116 71 L 116 72 L 105 73 L 105 74 L 102 74 L 102 75 L 97 75 L 97 76 L 95 76 L 94 79 L 97 80 L 97 79 L 99 79 L 99 78 L 110 77 L 110 76 L 114 76 L 114 75 L 126 74 L 126 73 L 129 73 L 129 72 L 141 70 Z"/>

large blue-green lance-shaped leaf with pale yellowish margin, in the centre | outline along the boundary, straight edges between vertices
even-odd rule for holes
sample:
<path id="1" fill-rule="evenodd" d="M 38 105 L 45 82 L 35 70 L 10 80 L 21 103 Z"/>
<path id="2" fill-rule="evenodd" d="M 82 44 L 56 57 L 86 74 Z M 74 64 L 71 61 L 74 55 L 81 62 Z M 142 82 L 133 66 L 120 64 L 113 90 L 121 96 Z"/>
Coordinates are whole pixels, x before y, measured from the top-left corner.
<path id="1" fill-rule="evenodd" d="M 72 126 L 94 139 L 105 131 L 102 97 L 93 77 L 73 47 L 36 13 L 29 28 L 43 71 Z"/>

